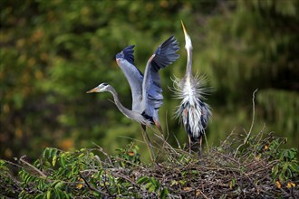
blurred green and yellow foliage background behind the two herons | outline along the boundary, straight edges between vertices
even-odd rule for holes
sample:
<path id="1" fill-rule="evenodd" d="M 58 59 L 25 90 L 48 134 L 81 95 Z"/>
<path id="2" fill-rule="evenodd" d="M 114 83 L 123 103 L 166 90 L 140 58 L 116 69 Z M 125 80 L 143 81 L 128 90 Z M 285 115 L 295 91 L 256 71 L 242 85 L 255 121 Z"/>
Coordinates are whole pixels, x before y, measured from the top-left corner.
<path id="1" fill-rule="evenodd" d="M 211 146 L 249 130 L 256 93 L 254 133 L 275 131 L 299 143 L 299 1 L 296 0 L 2 0 L 0 38 L 0 157 L 40 156 L 43 147 L 63 150 L 100 145 L 115 153 L 140 125 L 121 115 L 110 93 L 86 94 L 109 82 L 130 108 L 130 87 L 115 54 L 135 44 L 135 63 L 144 71 L 149 56 L 170 35 L 180 58 L 159 72 L 164 104 L 162 128 L 176 147 L 187 136 L 173 118 L 179 101 L 170 77 L 186 66 L 183 20 L 194 49 L 194 72 L 206 74 L 213 118 Z M 152 132 L 150 136 L 154 139 Z M 142 144 L 139 144 L 142 147 Z M 146 147 L 142 147 L 146 148 Z"/>

